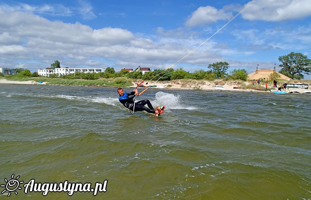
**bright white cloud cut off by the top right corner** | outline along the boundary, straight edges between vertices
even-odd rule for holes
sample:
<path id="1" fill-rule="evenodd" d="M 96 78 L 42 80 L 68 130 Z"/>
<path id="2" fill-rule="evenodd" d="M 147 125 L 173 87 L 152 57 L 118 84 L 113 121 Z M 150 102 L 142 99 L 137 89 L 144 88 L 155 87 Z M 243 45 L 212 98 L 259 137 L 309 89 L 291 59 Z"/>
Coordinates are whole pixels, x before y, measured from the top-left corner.
<path id="1" fill-rule="evenodd" d="M 311 16 L 310 0 L 258 0 L 242 13 L 248 20 L 286 21 Z"/>

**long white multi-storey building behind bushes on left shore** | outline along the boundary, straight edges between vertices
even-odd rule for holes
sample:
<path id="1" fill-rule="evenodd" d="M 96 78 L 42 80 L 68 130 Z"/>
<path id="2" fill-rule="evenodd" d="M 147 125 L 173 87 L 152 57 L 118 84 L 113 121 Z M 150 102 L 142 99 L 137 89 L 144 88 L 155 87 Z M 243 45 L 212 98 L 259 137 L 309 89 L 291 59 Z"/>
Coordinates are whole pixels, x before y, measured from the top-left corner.
<path id="1" fill-rule="evenodd" d="M 98 72 L 104 72 L 103 68 L 55 68 L 50 69 L 49 67 L 46 67 L 46 69 L 39 69 L 38 74 L 40 76 L 46 76 L 49 77 L 50 74 L 58 74 L 58 75 L 69 75 L 73 74 L 75 72 L 82 72 L 82 73 L 98 73 Z"/>

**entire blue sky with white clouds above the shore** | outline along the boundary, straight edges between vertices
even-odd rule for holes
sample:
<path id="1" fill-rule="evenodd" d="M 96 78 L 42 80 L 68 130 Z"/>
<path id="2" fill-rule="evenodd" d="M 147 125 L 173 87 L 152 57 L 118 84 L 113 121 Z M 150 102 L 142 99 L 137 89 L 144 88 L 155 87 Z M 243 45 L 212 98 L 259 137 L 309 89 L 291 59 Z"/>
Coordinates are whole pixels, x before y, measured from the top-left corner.
<path id="1" fill-rule="evenodd" d="M 0 66 L 167 68 L 251 1 L 0 1 Z M 257 0 L 174 69 L 273 69 L 290 52 L 311 58 L 309 0 Z M 311 79 L 311 75 L 305 76 Z"/>

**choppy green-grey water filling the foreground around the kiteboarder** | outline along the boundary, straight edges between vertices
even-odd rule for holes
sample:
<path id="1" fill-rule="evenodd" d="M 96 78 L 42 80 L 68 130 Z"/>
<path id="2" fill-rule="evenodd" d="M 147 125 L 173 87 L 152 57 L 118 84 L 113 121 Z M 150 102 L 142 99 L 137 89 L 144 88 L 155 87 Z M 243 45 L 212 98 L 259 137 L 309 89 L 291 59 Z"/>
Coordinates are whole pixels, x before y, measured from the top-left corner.
<path id="1" fill-rule="evenodd" d="M 116 88 L 0 84 L 2 186 L 12 174 L 108 180 L 96 197 L 22 187 L 9 198 L 311 198 L 310 95 L 149 89 L 142 99 L 165 105 L 163 116 L 129 114 Z"/>

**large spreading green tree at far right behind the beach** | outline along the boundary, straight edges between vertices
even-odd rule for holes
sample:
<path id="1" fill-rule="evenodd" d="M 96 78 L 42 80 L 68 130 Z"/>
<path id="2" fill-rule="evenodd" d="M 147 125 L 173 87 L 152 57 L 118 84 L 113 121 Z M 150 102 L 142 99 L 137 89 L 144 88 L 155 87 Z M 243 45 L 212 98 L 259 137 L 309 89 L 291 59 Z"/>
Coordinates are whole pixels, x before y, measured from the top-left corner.
<path id="1" fill-rule="evenodd" d="M 302 53 L 291 52 L 280 56 L 279 61 L 282 63 L 279 65 L 281 67 L 279 72 L 292 79 L 303 79 L 303 73 L 310 74 L 311 72 L 311 59 Z"/>

